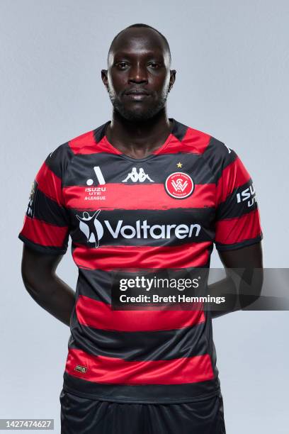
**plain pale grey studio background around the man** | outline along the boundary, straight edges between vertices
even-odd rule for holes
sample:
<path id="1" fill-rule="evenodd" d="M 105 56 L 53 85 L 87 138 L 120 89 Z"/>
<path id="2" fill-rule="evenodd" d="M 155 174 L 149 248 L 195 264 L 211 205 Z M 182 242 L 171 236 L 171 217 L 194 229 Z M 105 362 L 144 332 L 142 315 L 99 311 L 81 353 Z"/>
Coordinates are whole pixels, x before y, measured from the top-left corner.
<path id="1" fill-rule="evenodd" d="M 55 418 L 60 433 L 69 328 L 24 289 L 17 238 L 36 172 L 58 145 L 110 118 L 108 46 L 125 26 L 147 23 L 169 40 L 177 70 L 169 116 L 239 154 L 257 191 L 264 265 L 288 267 L 289 6 L 1 0 L 0 9 L 0 417 Z M 75 289 L 70 250 L 57 274 Z M 288 312 L 229 314 L 213 330 L 227 434 L 288 433 Z"/>

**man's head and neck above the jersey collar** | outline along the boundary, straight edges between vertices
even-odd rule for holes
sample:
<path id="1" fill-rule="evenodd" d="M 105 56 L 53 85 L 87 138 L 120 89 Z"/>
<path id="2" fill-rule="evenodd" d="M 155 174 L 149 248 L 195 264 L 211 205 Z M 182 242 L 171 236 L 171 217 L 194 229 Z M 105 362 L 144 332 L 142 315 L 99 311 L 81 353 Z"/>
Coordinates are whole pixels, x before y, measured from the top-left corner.
<path id="1" fill-rule="evenodd" d="M 165 99 L 176 71 L 169 67 L 169 52 L 159 34 L 147 28 L 130 28 L 118 36 L 108 55 L 108 69 L 101 71 L 113 103 L 106 136 L 130 157 L 151 154 L 171 132 Z M 148 94 L 128 96 L 126 92 L 131 89 L 145 89 Z"/>

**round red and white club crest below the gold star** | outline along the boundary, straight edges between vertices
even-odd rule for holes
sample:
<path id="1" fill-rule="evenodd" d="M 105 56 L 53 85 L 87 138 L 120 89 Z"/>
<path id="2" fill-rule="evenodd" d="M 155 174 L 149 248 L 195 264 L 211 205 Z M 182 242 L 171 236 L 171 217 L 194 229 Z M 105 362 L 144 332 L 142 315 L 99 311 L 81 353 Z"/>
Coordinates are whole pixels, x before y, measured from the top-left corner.
<path id="1" fill-rule="evenodd" d="M 166 193 L 174 199 L 186 199 L 194 189 L 193 179 L 183 172 L 174 172 L 166 178 L 164 183 Z"/>

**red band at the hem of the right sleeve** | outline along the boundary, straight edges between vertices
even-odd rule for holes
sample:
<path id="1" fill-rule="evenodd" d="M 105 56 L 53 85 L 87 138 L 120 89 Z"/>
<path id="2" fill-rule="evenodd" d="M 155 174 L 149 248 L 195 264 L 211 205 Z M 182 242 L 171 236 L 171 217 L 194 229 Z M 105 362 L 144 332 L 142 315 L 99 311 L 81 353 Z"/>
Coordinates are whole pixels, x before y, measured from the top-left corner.
<path id="1" fill-rule="evenodd" d="M 261 234 L 259 209 L 242 217 L 216 222 L 215 241 L 222 244 L 240 243 Z"/>

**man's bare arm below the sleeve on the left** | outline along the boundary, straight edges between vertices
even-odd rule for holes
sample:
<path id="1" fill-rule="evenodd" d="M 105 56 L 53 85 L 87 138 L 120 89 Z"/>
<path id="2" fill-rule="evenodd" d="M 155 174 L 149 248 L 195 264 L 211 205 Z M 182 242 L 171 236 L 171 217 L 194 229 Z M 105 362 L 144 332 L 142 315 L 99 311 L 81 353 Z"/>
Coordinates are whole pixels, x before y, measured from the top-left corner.
<path id="1" fill-rule="evenodd" d="M 62 257 L 40 253 L 23 245 L 21 273 L 24 286 L 36 303 L 69 326 L 75 292 L 55 274 Z"/>

